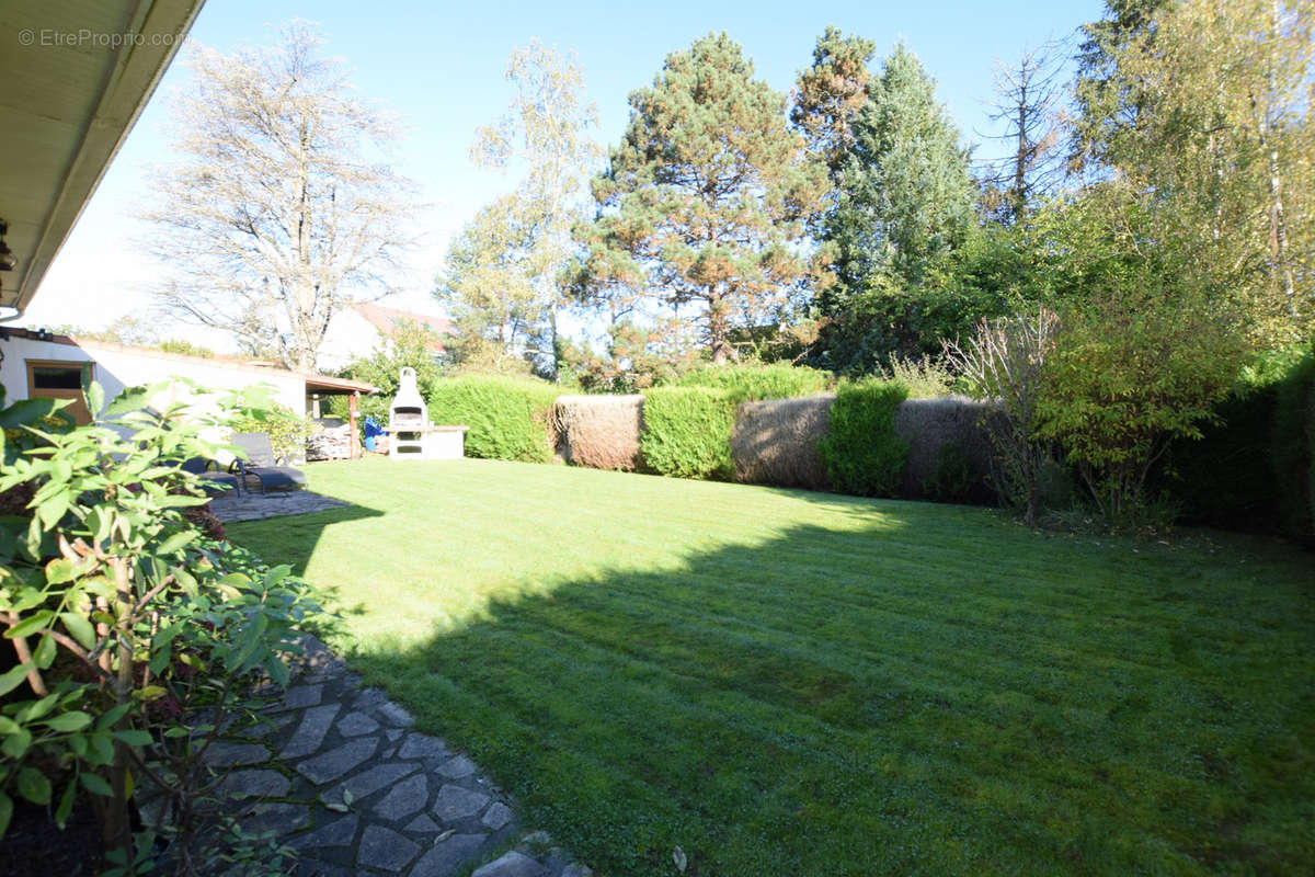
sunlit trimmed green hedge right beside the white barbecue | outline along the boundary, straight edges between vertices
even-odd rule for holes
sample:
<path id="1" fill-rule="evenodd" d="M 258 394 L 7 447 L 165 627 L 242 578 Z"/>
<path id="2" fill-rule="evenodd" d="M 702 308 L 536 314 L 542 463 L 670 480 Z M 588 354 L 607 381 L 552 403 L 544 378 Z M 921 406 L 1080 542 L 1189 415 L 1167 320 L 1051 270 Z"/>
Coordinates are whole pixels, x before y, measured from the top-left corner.
<path id="1" fill-rule="evenodd" d="M 466 375 L 435 381 L 426 402 L 434 423 L 471 427 L 467 456 L 551 463 L 548 412 L 559 392 L 546 381 Z"/>

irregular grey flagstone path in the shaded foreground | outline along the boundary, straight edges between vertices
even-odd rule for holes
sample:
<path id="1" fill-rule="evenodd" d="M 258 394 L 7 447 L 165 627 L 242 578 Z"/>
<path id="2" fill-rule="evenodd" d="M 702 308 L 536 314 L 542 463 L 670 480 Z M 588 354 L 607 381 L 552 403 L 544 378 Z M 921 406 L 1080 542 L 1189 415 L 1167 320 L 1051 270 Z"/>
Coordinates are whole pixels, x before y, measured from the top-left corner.
<path id="1" fill-rule="evenodd" d="M 412 730 L 412 717 L 313 638 L 264 721 L 212 746 L 249 832 L 299 851 L 297 877 L 404 874 L 589 877 L 525 834 L 512 802 L 467 756 Z"/>

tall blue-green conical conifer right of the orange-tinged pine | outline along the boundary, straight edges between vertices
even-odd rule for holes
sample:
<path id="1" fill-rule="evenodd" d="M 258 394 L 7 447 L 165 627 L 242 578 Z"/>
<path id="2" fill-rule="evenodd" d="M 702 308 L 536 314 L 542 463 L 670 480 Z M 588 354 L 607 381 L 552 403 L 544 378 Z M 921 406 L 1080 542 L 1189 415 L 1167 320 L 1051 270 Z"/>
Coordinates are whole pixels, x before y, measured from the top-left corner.
<path id="1" fill-rule="evenodd" d="M 930 284 L 976 227 L 968 153 L 918 58 L 897 45 L 869 92 L 825 230 L 838 283 L 818 297 L 821 362 L 842 371 L 936 343 L 922 326 Z"/>

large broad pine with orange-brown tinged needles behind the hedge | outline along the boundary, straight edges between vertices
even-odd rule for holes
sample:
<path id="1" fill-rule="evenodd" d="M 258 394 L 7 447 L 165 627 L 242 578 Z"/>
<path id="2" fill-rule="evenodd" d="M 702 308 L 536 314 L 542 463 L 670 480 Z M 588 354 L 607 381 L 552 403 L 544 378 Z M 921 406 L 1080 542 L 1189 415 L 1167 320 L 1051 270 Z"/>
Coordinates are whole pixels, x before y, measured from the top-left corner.
<path id="1" fill-rule="evenodd" d="M 814 262 L 801 251 L 826 174 L 786 124 L 785 99 L 753 79 L 726 34 L 667 57 L 593 184 L 580 229 L 586 300 L 646 327 L 693 323 L 714 363 L 732 333 L 789 318 Z"/>

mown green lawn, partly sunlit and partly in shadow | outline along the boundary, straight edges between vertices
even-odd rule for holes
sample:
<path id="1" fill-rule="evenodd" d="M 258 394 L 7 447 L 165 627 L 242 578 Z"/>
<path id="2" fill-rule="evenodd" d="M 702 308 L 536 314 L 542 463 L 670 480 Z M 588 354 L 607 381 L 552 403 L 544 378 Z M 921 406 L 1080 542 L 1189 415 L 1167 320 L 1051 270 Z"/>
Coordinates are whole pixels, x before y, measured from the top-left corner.
<path id="1" fill-rule="evenodd" d="M 1310 873 L 1315 557 L 463 460 L 231 525 L 604 874 Z"/>

